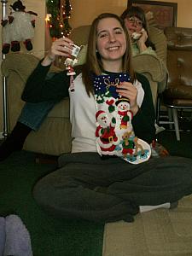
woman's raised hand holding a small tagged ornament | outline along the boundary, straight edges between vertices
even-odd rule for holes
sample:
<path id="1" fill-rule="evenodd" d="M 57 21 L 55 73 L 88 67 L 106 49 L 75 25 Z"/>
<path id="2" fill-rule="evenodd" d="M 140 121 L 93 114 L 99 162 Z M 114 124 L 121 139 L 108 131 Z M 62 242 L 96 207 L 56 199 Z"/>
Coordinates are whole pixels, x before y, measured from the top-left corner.
<path id="1" fill-rule="evenodd" d="M 42 61 L 43 66 L 49 66 L 51 62 L 55 61 L 56 55 L 60 55 L 63 57 L 71 57 L 73 50 L 73 41 L 69 38 L 59 38 L 56 39 L 49 49 L 48 55 L 44 57 L 44 61 Z"/>

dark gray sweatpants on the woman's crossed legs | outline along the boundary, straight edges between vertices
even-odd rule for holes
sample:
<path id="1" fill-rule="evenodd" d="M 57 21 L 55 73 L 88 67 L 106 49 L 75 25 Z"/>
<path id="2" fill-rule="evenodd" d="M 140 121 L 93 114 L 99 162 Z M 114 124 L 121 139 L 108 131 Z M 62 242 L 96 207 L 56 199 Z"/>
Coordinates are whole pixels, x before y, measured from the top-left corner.
<path id="1" fill-rule="evenodd" d="M 141 205 L 174 202 L 191 193 L 190 159 L 168 156 L 132 165 L 96 153 L 63 154 L 59 169 L 33 190 L 44 211 L 96 222 L 131 222 Z"/>

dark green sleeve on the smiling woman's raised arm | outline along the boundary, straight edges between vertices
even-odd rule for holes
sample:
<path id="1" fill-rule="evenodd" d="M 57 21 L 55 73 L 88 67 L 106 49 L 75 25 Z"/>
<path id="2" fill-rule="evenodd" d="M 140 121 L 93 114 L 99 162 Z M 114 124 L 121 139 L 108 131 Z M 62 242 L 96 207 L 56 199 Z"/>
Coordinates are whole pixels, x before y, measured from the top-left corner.
<path id="1" fill-rule="evenodd" d="M 50 66 L 38 67 L 26 81 L 21 99 L 25 102 L 61 100 L 68 96 L 69 76 L 66 72 L 48 73 Z"/>

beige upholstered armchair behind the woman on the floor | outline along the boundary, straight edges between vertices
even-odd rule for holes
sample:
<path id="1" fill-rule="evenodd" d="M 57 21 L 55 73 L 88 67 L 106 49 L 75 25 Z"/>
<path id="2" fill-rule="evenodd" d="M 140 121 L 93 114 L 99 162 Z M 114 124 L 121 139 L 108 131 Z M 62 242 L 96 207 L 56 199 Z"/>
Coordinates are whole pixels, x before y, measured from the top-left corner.
<path id="1" fill-rule="evenodd" d="M 76 44 L 87 44 L 89 29 L 90 26 L 75 28 L 73 29 L 71 38 L 73 38 Z M 153 42 L 157 48 L 157 55 L 163 61 L 160 61 L 155 56 L 141 55 L 140 58 L 138 56 L 133 58 L 133 64 L 137 72 L 141 72 L 148 77 L 155 103 L 158 86 L 165 79 L 166 39 L 163 32 L 156 28 L 151 28 L 150 33 L 151 38 L 154 38 Z M 160 48 L 157 47 L 158 44 Z M 26 79 L 32 73 L 34 67 L 37 66 L 38 61 L 38 58 L 34 55 L 23 53 L 10 53 L 3 60 L 2 73 L 8 82 L 9 131 L 12 131 L 20 110 L 25 103 L 20 100 L 20 95 L 26 84 Z M 56 67 L 52 68 L 54 69 Z M 40 129 L 37 132 L 32 131 L 29 134 L 26 138 L 24 149 L 51 155 L 70 152 L 71 125 L 68 99 L 56 104 L 49 112 L 48 117 L 44 120 Z"/>

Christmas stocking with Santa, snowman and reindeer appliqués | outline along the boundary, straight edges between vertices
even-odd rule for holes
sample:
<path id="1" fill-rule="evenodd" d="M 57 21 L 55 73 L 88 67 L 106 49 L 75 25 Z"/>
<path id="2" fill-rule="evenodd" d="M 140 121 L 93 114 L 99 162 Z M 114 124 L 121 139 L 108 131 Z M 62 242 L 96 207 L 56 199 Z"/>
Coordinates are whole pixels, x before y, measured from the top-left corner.
<path id="1" fill-rule="evenodd" d="M 127 73 L 94 76 L 96 147 L 101 155 L 117 155 L 138 164 L 149 159 L 151 149 L 134 134 L 129 99 L 116 92 L 117 84 L 124 81 L 130 81 Z"/>

